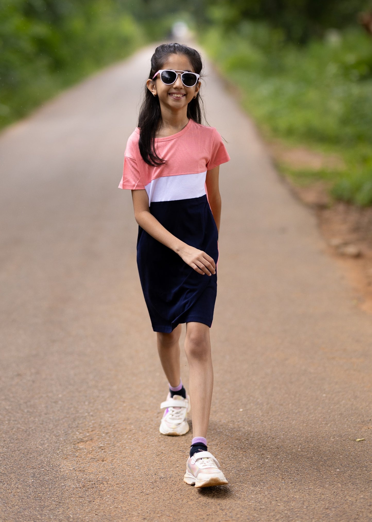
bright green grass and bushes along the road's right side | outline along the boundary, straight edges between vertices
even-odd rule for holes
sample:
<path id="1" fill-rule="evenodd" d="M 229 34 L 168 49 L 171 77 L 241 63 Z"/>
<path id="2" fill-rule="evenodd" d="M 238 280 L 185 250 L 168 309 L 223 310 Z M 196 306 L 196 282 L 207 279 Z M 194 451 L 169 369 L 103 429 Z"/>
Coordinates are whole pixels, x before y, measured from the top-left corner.
<path id="1" fill-rule="evenodd" d="M 245 21 L 229 33 L 210 28 L 201 41 L 239 86 L 243 106 L 268 137 L 336 152 L 346 164 L 345 171 L 297 170 L 297 180 L 326 179 L 334 197 L 372 204 L 372 41 L 367 34 L 332 30 L 299 47 L 286 42 L 280 29 Z"/>

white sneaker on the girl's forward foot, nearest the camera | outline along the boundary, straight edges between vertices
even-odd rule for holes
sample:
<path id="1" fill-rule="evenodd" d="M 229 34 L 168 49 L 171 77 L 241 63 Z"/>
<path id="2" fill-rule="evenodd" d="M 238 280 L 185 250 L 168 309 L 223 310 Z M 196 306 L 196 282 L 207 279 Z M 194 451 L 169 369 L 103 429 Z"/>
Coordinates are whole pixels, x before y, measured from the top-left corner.
<path id="1" fill-rule="evenodd" d="M 183 480 L 195 488 L 228 484 L 218 460 L 209 452 L 197 452 L 188 458 Z"/>

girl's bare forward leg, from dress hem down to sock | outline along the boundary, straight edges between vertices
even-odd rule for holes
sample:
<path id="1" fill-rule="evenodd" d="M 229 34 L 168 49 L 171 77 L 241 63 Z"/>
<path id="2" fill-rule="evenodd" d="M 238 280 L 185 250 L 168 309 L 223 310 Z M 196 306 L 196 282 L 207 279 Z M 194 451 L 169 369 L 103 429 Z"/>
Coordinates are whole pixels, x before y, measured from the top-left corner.
<path id="1" fill-rule="evenodd" d="M 194 437 L 206 437 L 213 392 L 213 366 L 209 327 L 186 323 L 185 352 L 189 362 L 189 393 Z"/>

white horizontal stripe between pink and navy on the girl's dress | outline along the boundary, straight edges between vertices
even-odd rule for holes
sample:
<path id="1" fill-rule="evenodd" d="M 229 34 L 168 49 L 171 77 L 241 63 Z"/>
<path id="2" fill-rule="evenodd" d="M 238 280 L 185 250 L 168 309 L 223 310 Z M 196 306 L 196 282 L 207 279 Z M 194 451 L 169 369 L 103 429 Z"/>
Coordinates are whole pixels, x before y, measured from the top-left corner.
<path id="1" fill-rule="evenodd" d="M 205 194 L 205 177 L 207 171 L 199 174 L 178 174 L 158 177 L 145 186 L 148 204 L 152 201 L 174 201 L 201 197 Z"/>

